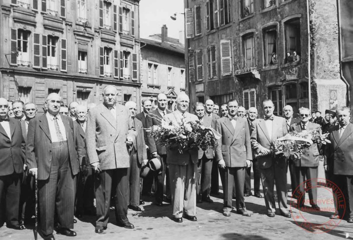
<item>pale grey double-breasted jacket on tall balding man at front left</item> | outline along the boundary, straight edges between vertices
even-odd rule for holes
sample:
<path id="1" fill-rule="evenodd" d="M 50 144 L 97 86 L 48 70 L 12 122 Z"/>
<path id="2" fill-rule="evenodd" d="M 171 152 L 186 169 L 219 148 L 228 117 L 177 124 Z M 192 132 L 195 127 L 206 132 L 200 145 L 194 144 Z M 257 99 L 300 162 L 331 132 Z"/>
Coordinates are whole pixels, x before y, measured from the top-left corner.
<path id="1" fill-rule="evenodd" d="M 99 162 L 102 170 L 129 167 L 126 136 L 132 133 L 128 109 L 115 105 L 116 117 L 103 104 L 88 112 L 86 124 L 86 151 L 90 164 Z M 135 133 L 132 133 L 135 135 Z"/>

